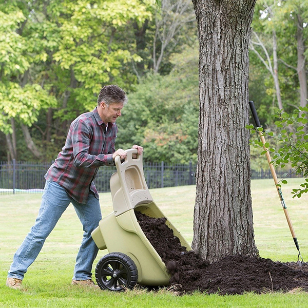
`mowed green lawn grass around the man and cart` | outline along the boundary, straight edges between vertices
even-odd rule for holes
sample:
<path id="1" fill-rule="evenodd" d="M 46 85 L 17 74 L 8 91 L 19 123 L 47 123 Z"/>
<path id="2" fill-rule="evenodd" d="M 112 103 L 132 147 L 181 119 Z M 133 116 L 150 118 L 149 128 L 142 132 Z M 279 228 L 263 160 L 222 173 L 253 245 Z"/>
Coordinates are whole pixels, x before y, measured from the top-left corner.
<path id="1" fill-rule="evenodd" d="M 307 261 L 308 195 L 293 199 L 290 193 L 300 181 L 289 180 L 287 185 L 282 186 L 282 191 L 301 255 Z M 191 243 L 195 187 L 168 187 L 151 189 L 150 192 L 165 216 Z M 7 271 L 13 254 L 35 221 L 41 197 L 41 194 L 0 195 L 0 307 L 308 307 L 308 294 L 300 291 L 238 296 L 199 293 L 177 296 L 166 289 L 159 292 L 133 290 L 111 293 L 73 287 L 70 282 L 83 230 L 72 205 L 29 267 L 24 279 L 27 291 L 11 290 L 5 285 Z M 252 198 L 255 240 L 260 256 L 282 262 L 297 261 L 297 249 L 273 180 L 253 180 Z M 110 193 L 101 194 L 100 202 L 104 217 L 112 211 Z M 94 266 L 105 253 L 99 252 Z"/>

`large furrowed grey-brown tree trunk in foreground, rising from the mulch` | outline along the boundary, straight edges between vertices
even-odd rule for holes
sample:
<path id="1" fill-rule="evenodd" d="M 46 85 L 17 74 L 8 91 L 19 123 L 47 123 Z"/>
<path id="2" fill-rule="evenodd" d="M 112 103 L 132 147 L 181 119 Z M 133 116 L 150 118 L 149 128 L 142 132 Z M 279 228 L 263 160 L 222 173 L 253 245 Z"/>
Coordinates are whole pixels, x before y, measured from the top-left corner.
<path id="1" fill-rule="evenodd" d="M 250 185 L 248 44 L 255 0 L 192 0 L 199 30 L 199 148 L 192 248 L 257 256 Z"/>

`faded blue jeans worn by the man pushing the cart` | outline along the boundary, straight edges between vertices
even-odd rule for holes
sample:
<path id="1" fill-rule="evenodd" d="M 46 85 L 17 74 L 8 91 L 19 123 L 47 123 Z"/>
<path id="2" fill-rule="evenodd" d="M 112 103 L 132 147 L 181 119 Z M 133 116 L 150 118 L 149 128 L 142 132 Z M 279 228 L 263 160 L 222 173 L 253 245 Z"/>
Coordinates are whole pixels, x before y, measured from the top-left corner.
<path id="1" fill-rule="evenodd" d="M 84 230 L 83 240 L 76 257 L 73 279 L 91 278 L 93 261 L 98 254 L 98 247 L 91 237 L 91 232 L 102 219 L 100 202 L 90 191 L 87 203 L 79 203 L 72 199 L 62 186 L 52 181 L 47 181 L 45 184 L 40 211 L 34 226 L 13 257 L 13 263 L 8 272 L 9 278 L 24 278 L 28 267 L 40 253 L 46 238 L 70 203 L 73 204 Z"/>

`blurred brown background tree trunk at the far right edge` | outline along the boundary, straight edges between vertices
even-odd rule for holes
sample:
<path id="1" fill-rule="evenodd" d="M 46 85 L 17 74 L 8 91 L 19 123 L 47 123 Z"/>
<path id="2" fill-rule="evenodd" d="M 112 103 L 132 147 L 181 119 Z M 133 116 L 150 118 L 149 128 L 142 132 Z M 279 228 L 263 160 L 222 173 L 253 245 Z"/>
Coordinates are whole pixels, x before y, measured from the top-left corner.
<path id="1" fill-rule="evenodd" d="M 303 21 L 299 14 L 297 14 L 297 73 L 300 87 L 300 106 L 307 105 L 307 76 L 305 71 L 305 43 L 303 37 Z"/>

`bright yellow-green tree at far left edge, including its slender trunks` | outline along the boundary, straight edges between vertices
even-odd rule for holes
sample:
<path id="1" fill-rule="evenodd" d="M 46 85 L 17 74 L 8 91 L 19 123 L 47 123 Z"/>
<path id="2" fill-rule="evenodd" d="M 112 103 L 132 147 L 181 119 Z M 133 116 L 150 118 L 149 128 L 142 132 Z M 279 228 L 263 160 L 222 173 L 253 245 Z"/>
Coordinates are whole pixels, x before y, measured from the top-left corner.
<path id="1" fill-rule="evenodd" d="M 42 153 L 34 144 L 28 127 L 37 121 L 40 110 L 55 106 L 55 100 L 48 98 L 48 90 L 36 80 L 30 79 L 30 70 L 35 63 L 34 41 L 28 41 L 27 15 L 23 6 L 7 4 L 0 12 L 0 29 L 3 33 L 0 71 L 0 129 L 6 135 L 9 158 L 17 158 L 16 126 L 22 129 L 27 147 L 36 158 Z M 31 16 L 28 16 L 31 18 Z"/>

